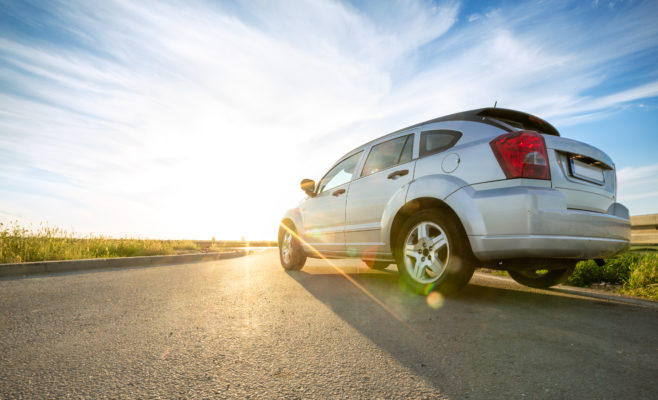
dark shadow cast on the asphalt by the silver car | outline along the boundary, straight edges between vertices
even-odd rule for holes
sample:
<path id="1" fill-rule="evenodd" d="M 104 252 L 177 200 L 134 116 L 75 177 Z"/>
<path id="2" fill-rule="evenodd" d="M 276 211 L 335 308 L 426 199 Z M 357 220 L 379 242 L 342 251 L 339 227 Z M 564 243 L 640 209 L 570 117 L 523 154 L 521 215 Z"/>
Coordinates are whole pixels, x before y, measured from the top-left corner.
<path id="1" fill-rule="evenodd" d="M 426 298 L 404 290 L 394 271 L 323 266 L 288 274 L 451 398 L 656 394 L 650 384 L 658 372 L 655 310 L 501 288 L 477 276 L 454 297 Z M 652 344 L 645 335 L 653 335 Z M 629 357 L 649 349 L 651 357 Z M 629 391 L 630 381 L 644 383 Z"/>

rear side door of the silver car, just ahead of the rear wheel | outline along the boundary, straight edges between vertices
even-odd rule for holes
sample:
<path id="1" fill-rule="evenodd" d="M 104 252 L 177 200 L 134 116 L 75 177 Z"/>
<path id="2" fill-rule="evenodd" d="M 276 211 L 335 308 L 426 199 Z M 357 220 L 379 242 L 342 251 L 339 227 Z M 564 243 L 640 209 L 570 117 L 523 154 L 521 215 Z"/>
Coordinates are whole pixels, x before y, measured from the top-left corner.
<path id="1" fill-rule="evenodd" d="M 374 144 L 359 178 L 349 187 L 345 210 L 346 250 L 353 255 L 387 252 L 381 219 L 388 201 L 413 178 L 415 132 Z"/>

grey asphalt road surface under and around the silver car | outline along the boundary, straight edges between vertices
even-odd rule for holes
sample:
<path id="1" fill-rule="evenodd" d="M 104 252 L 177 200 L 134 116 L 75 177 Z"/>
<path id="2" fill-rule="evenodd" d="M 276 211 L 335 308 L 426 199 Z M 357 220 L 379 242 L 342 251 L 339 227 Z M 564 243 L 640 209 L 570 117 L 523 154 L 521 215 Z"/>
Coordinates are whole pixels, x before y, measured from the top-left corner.
<path id="1" fill-rule="evenodd" d="M 656 399 L 658 307 L 276 251 L 0 280 L 0 398 Z"/>

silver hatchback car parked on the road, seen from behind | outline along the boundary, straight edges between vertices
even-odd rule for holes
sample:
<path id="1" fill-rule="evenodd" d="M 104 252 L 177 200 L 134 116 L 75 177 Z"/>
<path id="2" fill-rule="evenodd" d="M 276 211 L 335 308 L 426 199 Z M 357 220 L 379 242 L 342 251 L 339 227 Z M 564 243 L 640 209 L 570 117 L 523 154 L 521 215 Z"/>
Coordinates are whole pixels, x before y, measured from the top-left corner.
<path id="1" fill-rule="evenodd" d="M 307 257 L 397 265 L 411 291 L 457 292 L 476 268 L 548 288 L 578 261 L 628 249 L 615 164 L 534 115 L 503 108 L 397 130 L 341 157 L 287 211 L 283 268 Z"/>

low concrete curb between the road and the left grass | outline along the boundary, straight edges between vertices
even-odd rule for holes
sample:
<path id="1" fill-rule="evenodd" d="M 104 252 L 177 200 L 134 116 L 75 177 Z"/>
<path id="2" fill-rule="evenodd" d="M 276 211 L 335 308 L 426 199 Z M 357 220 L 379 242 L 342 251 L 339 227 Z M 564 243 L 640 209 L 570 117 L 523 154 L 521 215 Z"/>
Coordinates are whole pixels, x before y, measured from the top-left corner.
<path id="1" fill-rule="evenodd" d="M 250 253 L 251 252 L 249 250 L 240 250 L 221 253 L 195 253 L 171 256 L 90 258 L 84 260 L 36 261 L 27 263 L 0 264 L 0 278 L 52 274 L 58 272 L 86 271 L 103 268 L 149 267 L 200 261 L 223 260 L 243 257 Z"/>

